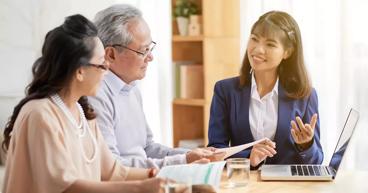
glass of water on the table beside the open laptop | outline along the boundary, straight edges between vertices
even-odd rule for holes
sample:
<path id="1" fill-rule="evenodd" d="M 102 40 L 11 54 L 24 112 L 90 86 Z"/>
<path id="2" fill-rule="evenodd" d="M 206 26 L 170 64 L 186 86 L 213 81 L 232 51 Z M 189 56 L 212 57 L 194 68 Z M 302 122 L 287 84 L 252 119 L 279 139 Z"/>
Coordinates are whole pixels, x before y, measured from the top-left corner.
<path id="1" fill-rule="evenodd" d="M 229 186 L 247 186 L 250 175 L 250 160 L 247 158 L 231 158 L 226 161 Z"/>

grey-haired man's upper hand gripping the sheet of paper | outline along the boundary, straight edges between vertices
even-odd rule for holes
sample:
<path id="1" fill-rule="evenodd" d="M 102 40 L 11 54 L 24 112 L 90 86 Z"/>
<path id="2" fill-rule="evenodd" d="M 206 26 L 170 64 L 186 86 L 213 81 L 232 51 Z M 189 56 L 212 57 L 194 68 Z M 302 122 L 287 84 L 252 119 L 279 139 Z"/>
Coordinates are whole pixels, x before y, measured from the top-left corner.
<path id="1" fill-rule="evenodd" d="M 210 150 L 196 148 L 193 151 L 187 153 L 187 163 L 192 163 L 202 158 L 207 158 L 210 161 L 220 161 L 226 155 L 225 152 L 213 153 Z"/>

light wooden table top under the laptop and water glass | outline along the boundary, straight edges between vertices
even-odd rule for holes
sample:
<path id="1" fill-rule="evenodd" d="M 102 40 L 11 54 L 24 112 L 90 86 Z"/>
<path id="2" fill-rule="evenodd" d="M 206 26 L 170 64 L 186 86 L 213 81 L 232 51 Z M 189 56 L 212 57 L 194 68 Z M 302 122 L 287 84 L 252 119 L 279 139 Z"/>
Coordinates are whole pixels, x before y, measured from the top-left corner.
<path id="1" fill-rule="evenodd" d="M 229 187 L 226 170 L 222 172 L 219 193 L 311 193 L 311 192 L 368 192 L 368 171 L 339 171 L 330 182 L 266 182 L 261 180 L 261 171 L 250 172 L 250 182 L 245 187 Z"/>

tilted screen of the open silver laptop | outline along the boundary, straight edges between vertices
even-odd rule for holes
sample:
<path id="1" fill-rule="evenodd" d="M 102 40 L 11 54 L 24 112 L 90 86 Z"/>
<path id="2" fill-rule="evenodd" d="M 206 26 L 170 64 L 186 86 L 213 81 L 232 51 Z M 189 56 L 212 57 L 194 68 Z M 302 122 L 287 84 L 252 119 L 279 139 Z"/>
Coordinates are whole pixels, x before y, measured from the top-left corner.
<path id="1" fill-rule="evenodd" d="M 358 118 L 359 118 L 359 113 L 355 111 L 354 109 L 351 109 L 349 116 L 347 117 L 343 131 L 340 135 L 339 142 L 337 142 L 335 152 L 333 153 L 333 156 L 330 161 L 329 166 L 335 169 L 335 171 L 337 171 L 337 169 L 340 166 L 341 159 L 343 158 L 343 155 L 345 153 L 345 149 L 350 140 L 350 137 L 351 135 L 353 135 L 355 125 L 358 122 Z"/>

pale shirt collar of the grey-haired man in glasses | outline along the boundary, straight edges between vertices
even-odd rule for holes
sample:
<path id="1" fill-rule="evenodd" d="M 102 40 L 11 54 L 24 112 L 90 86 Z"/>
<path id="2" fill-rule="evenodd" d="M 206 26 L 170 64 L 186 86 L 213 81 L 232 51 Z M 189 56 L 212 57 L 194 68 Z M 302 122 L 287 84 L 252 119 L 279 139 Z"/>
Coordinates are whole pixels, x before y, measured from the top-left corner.
<path id="1" fill-rule="evenodd" d="M 133 81 L 129 85 L 127 85 L 110 70 L 103 81 L 105 81 L 106 85 L 109 87 L 114 96 L 116 96 L 121 90 L 124 92 L 130 92 L 130 90 L 132 90 L 132 88 L 138 84 L 137 81 Z"/>

